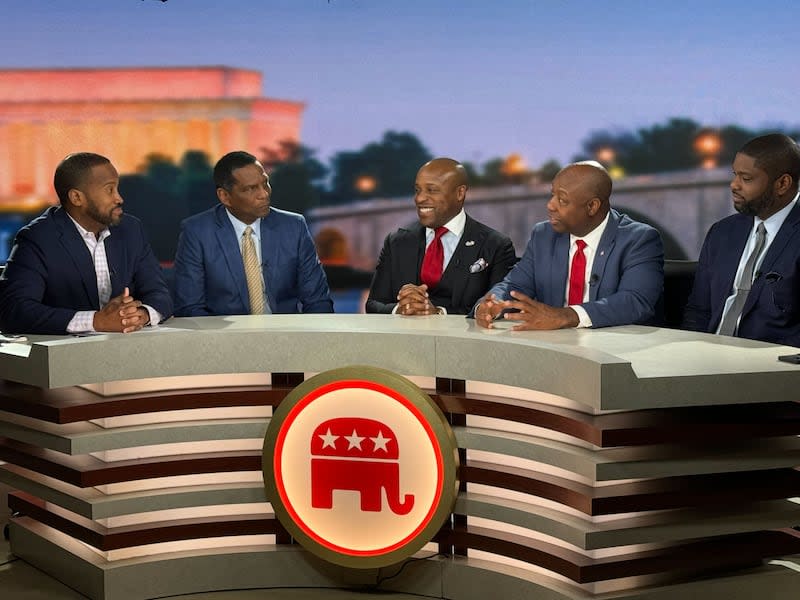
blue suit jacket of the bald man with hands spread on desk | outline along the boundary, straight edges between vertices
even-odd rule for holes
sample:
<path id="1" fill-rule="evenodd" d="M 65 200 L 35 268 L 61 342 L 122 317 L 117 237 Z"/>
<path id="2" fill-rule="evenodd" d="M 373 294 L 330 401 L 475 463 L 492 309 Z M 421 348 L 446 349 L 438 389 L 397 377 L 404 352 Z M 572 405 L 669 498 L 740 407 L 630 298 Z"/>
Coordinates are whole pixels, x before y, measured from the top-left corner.
<path id="1" fill-rule="evenodd" d="M 522 292 L 550 306 L 564 306 L 569 274 L 569 234 L 549 221 L 534 226 L 519 263 L 491 293 L 511 299 Z M 664 249 L 658 231 L 611 210 L 592 265 L 589 301 L 581 306 L 592 327 L 649 323 L 664 289 Z"/>

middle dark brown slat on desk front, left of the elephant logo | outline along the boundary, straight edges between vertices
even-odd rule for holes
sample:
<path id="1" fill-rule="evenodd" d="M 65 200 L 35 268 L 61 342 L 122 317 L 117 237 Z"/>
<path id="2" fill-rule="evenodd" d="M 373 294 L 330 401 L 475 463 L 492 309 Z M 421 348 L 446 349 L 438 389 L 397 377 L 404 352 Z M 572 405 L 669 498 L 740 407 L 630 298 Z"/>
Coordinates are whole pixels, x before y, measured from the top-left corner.
<path id="1" fill-rule="evenodd" d="M 89 455 L 68 456 L 7 438 L 0 438 L 0 460 L 78 487 L 176 475 L 261 470 L 260 451 L 206 452 L 104 462 Z"/>

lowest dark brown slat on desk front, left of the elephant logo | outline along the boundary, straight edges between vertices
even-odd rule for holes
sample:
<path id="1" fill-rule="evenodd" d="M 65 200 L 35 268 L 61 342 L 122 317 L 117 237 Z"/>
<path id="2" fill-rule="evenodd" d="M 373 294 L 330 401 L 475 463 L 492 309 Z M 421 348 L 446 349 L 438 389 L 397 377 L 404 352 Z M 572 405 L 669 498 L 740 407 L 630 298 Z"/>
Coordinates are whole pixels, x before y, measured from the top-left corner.
<path id="1" fill-rule="evenodd" d="M 9 493 L 8 506 L 12 511 L 36 519 L 100 550 L 207 537 L 278 533 L 275 515 L 267 512 L 263 515 L 176 519 L 109 528 L 23 492 Z"/>

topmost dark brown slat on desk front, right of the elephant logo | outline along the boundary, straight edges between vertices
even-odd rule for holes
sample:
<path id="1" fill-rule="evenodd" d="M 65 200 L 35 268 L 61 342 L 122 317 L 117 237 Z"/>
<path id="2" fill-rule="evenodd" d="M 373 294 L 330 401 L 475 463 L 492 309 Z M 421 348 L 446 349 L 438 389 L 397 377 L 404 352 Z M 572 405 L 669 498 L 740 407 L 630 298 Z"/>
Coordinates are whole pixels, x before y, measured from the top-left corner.
<path id="1" fill-rule="evenodd" d="M 478 394 L 439 393 L 433 398 L 444 412 L 535 425 L 602 448 L 800 435 L 800 403 L 797 402 L 590 415 L 562 407 Z"/>

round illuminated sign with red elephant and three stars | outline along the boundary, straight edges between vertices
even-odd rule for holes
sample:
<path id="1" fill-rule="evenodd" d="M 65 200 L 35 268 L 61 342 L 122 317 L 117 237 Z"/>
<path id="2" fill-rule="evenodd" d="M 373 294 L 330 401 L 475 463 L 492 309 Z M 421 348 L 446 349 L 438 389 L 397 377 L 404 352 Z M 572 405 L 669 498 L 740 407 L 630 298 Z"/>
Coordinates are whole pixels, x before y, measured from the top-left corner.
<path id="1" fill-rule="evenodd" d="M 450 514 L 457 446 L 407 379 L 373 367 L 321 373 L 286 399 L 264 441 L 264 481 L 304 547 L 348 567 L 392 564 Z"/>

